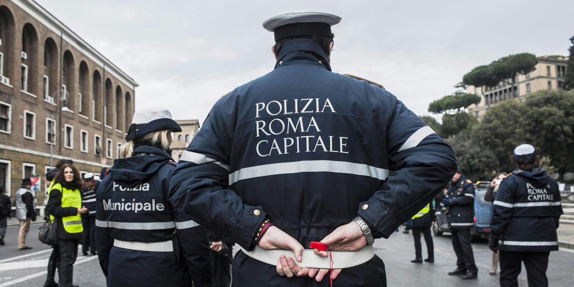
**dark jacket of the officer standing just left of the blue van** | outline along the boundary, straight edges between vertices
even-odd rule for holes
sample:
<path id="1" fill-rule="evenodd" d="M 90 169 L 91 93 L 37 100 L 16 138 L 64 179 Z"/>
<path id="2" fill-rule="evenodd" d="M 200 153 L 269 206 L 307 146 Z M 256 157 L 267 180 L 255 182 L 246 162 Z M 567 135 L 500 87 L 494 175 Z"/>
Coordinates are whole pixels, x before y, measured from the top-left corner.
<path id="1" fill-rule="evenodd" d="M 451 230 L 469 229 L 474 226 L 474 184 L 460 176 L 459 181 L 448 188 L 448 227 Z"/>

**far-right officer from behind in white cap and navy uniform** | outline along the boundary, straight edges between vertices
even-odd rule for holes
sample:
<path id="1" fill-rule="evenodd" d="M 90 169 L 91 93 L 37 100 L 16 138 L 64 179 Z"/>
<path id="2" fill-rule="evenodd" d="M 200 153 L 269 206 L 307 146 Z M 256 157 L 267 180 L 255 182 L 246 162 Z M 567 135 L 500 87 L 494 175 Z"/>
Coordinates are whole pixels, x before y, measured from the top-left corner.
<path id="1" fill-rule="evenodd" d="M 488 246 L 500 250 L 502 287 L 518 286 L 522 262 L 528 286 L 548 286 L 548 257 L 558 250 L 556 229 L 563 214 L 558 184 L 538 166 L 532 145 L 517 146 L 512 161 L 517 169 L 499 185 Z"/>

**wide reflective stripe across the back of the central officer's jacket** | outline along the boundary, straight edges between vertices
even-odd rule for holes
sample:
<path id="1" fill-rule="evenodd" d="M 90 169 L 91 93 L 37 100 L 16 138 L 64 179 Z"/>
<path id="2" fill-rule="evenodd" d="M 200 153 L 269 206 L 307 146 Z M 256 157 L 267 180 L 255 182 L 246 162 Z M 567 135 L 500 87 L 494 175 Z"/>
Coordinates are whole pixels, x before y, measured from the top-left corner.
<path id="1" fill-rule="evenodd" d="M 366 164 L 355 164 L 354 162 L 328 160 L 293 161 L 239 169 L 229 174 L 229 184 L 234 184 L 239 180 L 253 179 L 254 177 L 298 172 L 338 172 L 370 176 L 379 180 L 385 180 L 389 176 L 388 169 L 376 168 Z"/>

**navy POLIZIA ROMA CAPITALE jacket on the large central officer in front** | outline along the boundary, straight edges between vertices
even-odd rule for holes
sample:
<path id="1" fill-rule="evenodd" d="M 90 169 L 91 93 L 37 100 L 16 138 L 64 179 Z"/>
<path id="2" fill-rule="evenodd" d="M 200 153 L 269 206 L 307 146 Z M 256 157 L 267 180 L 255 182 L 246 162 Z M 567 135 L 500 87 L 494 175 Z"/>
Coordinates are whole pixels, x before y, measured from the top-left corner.
<path id="1" fill-rule="evenodd" d="M 170 200 L 247 250 L 265 218 L 309 248 L 357 215 L 376 238 L 389 237 L 455 170 L 452 149 L 394 95 L 331 72 L 318 44 L 297 39 L 274 71 L 215 104 L 177 164 Z M 236 255 L 234 285 L 257 285 L 262 274 L 269 285 L 314 282 L 254 261 Z M 336 280 L 360 285 L 368 272 L 377 284 L 384 266 L 371 261 Z"/>

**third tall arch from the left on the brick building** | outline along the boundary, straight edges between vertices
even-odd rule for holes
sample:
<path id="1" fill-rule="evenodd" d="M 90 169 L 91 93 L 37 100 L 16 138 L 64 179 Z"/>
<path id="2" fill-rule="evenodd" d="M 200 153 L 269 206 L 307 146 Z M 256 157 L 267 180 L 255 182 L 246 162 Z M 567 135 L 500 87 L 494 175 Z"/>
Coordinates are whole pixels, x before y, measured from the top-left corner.
<path id="1" fill-rule="evenodd" d="M 44 75 L 42 79 L 42 98 L 53 102 L 52 95 L 58 90 L 58 48 L 52 38 L 44 42 Z"/>

